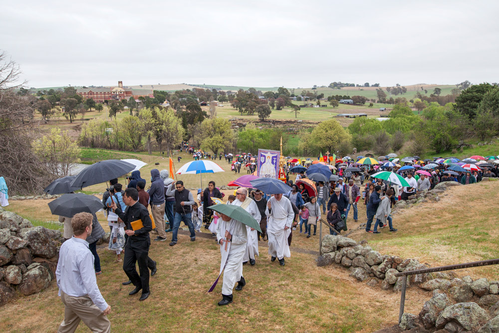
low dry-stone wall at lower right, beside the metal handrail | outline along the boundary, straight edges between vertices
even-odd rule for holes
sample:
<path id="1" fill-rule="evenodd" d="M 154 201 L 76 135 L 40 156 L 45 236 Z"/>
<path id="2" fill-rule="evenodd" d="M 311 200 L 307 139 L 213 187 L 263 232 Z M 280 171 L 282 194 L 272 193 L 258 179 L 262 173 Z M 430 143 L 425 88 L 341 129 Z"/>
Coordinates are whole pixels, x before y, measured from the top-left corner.
<path id="1" fill-rule="evenodd" d="M 396 273 L 429 268 L 416 259 L 381 255 L 367 244 L 343 236 L 324 236 L 321 250 L 317 266 L 339 265 L 360 282 L 393 292 L 401 291 L 404 279 Z M 413 287 L 432 291 L 433 297 L 418 316 L 403 315 L 402 330 L 499 333 L 499 281 L 458 278 L 447 271 L 411 275 L 407 288 Z"/>

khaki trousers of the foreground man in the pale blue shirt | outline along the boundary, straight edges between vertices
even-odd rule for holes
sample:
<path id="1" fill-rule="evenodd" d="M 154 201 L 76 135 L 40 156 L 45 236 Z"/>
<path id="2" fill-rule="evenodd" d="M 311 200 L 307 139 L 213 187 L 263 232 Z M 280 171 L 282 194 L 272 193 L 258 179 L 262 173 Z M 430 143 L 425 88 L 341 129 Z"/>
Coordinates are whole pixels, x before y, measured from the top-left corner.
<path id="1" fill-rule="evenodd" d="M 61 300 L 64 304 L 64 320 L 58 333 L 74 332 L 80 321 L 92 332 L 111 332 L 111 323 L 107 316 L 92 302 L 88 296 L 69 296 L 61 291 Z"/>

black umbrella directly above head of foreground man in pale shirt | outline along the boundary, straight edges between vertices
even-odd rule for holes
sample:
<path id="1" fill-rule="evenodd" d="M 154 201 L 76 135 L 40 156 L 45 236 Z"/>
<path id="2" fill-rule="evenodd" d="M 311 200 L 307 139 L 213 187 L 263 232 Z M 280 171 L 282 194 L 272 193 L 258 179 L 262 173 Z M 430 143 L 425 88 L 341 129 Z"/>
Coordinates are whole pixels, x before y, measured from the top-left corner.
<path id="1" fill-rule="evenodd" d="M 69 193 L 48 203 L 53 215 L 73 217 L 74 214 L 95 213 L 102 209 L 102 201 L 93 195 L 84 193 Z"/>

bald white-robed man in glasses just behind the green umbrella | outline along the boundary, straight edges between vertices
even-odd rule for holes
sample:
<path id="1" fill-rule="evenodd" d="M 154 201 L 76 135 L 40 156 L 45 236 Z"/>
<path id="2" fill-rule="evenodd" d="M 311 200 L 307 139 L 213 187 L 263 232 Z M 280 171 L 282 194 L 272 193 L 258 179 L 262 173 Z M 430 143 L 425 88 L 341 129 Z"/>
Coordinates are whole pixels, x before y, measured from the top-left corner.
<path id="1" fill-rule="evenodd" d="M 250 213 L 250 215 L 256 220 L 260 221 L 261 215 L 258 210 L 258 206 L 254 200 L 248 198 L 248 189 L 245 187 L 241 187 L 236 191 L 236 200 L 232 203 L 235 206 L 240 206 L 245 211 Z M 256 261 L 254 260 L 254 256 L 258 256 L 258 233 L 255 229 L 246 226 L 246 232 L 248 234 L 248 242 L 246 243 L 246 252 L 243 258 L 243 264 L 250 262 L 251 266 L 253 266 Z M 237 291 L 243 290 L 243 287 L 246 286 L 246 280 L 241 275 L 241 280 L 238 282 L 238 286 L 236 287 Z"/>

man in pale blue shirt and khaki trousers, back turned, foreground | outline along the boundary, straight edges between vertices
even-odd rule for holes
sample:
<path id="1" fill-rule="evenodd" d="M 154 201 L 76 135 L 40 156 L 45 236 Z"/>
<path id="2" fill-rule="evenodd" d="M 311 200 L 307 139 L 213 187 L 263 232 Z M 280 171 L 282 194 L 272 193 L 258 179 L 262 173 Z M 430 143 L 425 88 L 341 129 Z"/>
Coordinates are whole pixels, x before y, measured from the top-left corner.
<path id="1" fill-rule="evenodd" d="M 111 307 L 102 297 L 94 271 L 94 257 L 85 240 L 92 233 L 92 214 L 78 213 L 71 219 L 74 236 L 59 250 L 55 271 L 64 320 L 58 333 L 74 332 L 80 321 L 92 332 L 111 332 L 107 315 Z"/>

